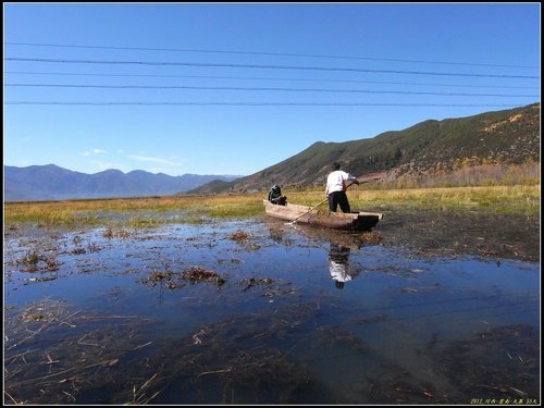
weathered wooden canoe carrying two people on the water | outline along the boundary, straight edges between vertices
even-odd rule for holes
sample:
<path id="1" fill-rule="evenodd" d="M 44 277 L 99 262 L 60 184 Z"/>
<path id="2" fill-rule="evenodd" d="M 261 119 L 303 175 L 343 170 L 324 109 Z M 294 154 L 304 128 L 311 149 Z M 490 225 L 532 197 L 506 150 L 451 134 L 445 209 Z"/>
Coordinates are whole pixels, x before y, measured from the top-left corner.
<path id="1" fill-rule="evenodd" d="M 383 214 L 379 212 L 331 212 L 327 208 L 318 209 L 290 202 L 287 206 L 273 205 L 269 200 L 262 202 L 270 217 L 334 230 L 370 231 L 383 219 Z"/>

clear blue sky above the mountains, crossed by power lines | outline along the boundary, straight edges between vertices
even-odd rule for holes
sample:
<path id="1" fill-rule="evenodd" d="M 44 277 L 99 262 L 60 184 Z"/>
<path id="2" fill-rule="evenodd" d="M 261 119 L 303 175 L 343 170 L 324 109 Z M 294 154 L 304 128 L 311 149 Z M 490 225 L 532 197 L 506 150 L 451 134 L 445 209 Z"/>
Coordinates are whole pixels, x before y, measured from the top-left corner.
<path id="1" fill-rule="evenodd" d="M 540 101 L 540 3 L 3 3 L 4 164 L 254 174 Z"/>

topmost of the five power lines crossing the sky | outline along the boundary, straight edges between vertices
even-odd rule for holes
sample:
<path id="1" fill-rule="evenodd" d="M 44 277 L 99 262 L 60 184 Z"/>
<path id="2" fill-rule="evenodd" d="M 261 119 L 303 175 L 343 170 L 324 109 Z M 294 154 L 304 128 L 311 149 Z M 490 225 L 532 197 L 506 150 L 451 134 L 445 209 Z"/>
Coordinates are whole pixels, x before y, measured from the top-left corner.
<path id="1" fill-rule="evenodd" d="M 133 51 L 169 51 L 169 52 L 231 53 L 231 54 L 247 54 L 247 55 L 304 57 L 304 58 L 327 58 L 327 59 L 367 60 L 367 61 L 409 62 L 409 63 L 444 64 L 444 65 L 495 66 L 495 67 L 515 67 L 515 69 L 520 69 L 520 67 L 522 67 L 522 69 L 539 69 L 539 66 L 530 66 L 530 65 L 508 65 L 508 64 L 484 64 L 484 63 L 468 63 L 468 62 L 444 62 L 444 61 L 403 60 L 403 59 L 390 59 L 390 58 L 371 58 L 371 57 L 354 57 L 354 55 L 330 55 L 330 54 L 304 54 L 304 53 L 287 53 L 287 52 L 203 50 L 203 49 L 194 49 L 194 48 L 112 47 L 112 46 L 83 46 L 83 45 L 37 44 L 37 42 L 10 42 L 10 41 L 5 41 L 4 45 L 10 45 L 10 46 L 32 46 L 32 47 L 59 47 L 59 48 L 133 50 Z"/>

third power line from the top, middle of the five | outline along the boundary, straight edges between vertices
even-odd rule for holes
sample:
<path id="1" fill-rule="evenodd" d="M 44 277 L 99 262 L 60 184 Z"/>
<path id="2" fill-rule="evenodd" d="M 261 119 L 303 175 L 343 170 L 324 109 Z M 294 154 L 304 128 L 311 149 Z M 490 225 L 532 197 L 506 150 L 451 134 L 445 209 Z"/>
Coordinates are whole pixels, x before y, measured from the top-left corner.
<path id="1" fill-rule="evenodd" d="M 380 84 L 380 85 L 449 86 L 449 87 L 465 87 L 465 88 L 539 89 L 539 87 L 535 87 L 535 86 L 429 84 L 429 83 L 407 83 L 407 82 L 387 82 L 387 81 L 310 79 L 310 78 L 289 78 L 289 77 L 287 77 L 287 78 L 280 78 L 280 77 L 259 77 L 259 76 L 163 75 L 163 74 L 96 74 L 96 73 L 27 72 L 27 71 L 4 71 L 4 74 L 16 74 L 16 75 L 99 76 L 99 77 L 152 77 L 152 78 L 293 81 L 293 82 Z"/>

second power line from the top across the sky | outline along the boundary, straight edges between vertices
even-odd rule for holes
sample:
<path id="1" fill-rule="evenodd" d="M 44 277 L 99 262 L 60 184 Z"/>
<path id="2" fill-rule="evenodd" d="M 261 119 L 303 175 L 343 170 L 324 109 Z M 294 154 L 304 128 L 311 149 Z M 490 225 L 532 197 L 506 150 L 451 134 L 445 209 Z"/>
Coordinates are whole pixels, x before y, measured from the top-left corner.
<path id="1" fill-rule="evenodd" d="M 258 65 L 258 64 L 220 64 L 209 62 L 171 62 L 171 61 L 106 61 L 106 60 L 66 60 L 66 59 L 39 59 L 39 58 L 7 58 L 5 61 L 45 62 L 45 63 L 72 63 L 72 64 L 114 64 L 114 65 L 161 65 L 161 66 L 195 66 L 195 67 L 237 67 L 237 69 L 267 69 L 267 70 L 302 70 L 302 71 L 334 71 L 334 72 L 364 72 L 380 74 L 410 74 L 410 75 L 436 75 L 436 76 L 462 76 L 462 77 L 487 77 L 487 78 L 518 78 L 536 79 L 533 75 L 496 75 L 496 74 L 465 74 L 465 73 L 438 73 L 424 71 L 396 71 L 396 70 L 363 70 L 353 67 L 323 67 L 323 66 L 299 66 L 299 65 Z"/>

